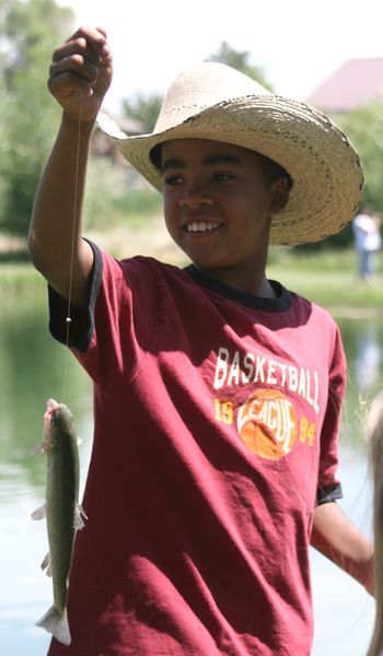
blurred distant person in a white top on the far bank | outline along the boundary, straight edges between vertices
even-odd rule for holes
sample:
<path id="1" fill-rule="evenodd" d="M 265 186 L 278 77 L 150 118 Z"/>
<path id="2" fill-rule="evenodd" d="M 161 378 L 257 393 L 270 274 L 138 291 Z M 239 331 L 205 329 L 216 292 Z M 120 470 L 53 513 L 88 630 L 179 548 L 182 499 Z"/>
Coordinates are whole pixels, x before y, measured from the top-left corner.
<path id="1" fill-rule="evenodd" d="M 375 256 L 382 247 L 381 219 L 367 204 L 361 206 L 352 221 L 355 249 L 358 254 L 358 276 L 371 284 L 375 272 Z"/>

